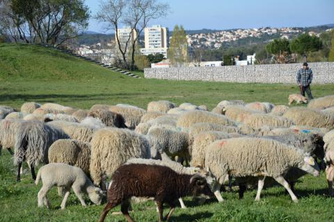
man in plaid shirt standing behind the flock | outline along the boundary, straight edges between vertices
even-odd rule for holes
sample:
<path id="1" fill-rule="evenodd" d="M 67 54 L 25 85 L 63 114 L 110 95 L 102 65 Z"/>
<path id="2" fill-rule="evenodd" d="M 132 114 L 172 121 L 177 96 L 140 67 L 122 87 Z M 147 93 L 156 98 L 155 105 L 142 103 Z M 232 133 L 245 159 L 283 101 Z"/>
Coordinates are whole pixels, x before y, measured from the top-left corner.
<path id="1" fill-rule="evenodd" d="M 308 99 L 312 100 L 312 93 L 310 84 L 312 84 L 312 70 L 308 68 L 308 63 L 303 63 L 303 68 L 297 72 L 297 84 L 301 88 L 301 95 L 305 96 L 305 92 L 308 94 Z"/>

